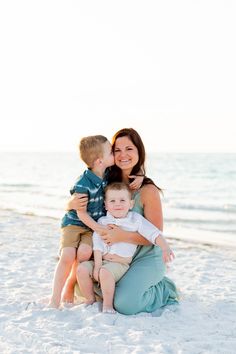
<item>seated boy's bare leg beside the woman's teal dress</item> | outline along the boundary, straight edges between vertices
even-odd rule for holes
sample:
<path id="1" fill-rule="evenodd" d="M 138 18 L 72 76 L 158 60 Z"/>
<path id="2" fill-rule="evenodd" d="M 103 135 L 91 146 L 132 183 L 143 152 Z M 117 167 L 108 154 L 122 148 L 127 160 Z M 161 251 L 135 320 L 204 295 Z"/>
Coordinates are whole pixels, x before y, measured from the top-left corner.
<path id="1" fill-rule="evenodd" d="M 109 272 L 109 270 L 105 268 L 100 269 L 99 278 L 103 296 L 102 312 L 116 313 L 113 307 L 115 279 L 113 275 Z"/>

